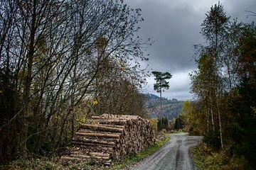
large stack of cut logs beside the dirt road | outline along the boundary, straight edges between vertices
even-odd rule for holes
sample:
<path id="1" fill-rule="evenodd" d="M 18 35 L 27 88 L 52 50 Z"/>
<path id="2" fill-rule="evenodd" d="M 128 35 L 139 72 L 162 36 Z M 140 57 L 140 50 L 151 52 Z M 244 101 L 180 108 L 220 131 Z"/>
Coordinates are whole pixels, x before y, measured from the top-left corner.
<path id="1" fill-rule="evenodd" d="M 92 116 L 80 125 L 72 145 L 61 159 L 65 162 L 93 159 L 111 164 L 112 159 L 123 159 L 127 154 L 146 149 L 154 141 L 149 120 L 137 115 Z"/>

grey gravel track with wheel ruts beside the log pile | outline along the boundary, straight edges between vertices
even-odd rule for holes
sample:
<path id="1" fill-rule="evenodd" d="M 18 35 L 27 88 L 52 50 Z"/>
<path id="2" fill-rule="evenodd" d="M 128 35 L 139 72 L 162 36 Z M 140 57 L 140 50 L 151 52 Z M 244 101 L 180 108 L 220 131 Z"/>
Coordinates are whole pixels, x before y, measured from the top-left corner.
<path id="1" fill-rule="evenodd" d="M 189 148 L 194 147 L 201 140 L 198 136 L 187 136 L 185 133 L 171 134 L 171 141 L 159 149 L 158 152 L 147 157 L 133 170 L 168 170 L 168 169 L 196 169 L 193 165 Z"/>

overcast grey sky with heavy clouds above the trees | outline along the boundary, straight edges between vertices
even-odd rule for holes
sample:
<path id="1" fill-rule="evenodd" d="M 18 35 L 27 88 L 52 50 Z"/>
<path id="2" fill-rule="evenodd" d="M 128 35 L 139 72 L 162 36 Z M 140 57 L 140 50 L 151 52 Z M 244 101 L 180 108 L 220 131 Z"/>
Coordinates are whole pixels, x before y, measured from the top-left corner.
<path id="1" fill-rule="evenodd" d="M 191 99 L 188 73 L 196 69 L 192 57 L 193 45 L 203 43 L 200 30 L 210 6 L 218 4 L 215 0 L 124 0 L 132 8 L 142 8 L 139 35 L 154 44 L 147 49 L 149 67 L 153 71 L 170 72 L 170 89 L 164 91 L 166 98 Z M 256 12 L 255 0 L 223 0 L 227 16 L 231 19 L 251 23 L 256 17 L 246 17 L 246 11 Z M 146 92 L 156 94 L 153 89 L 154 77 L 148 79 Z M 158 95 L 158 94 L 156 94 Z"/>

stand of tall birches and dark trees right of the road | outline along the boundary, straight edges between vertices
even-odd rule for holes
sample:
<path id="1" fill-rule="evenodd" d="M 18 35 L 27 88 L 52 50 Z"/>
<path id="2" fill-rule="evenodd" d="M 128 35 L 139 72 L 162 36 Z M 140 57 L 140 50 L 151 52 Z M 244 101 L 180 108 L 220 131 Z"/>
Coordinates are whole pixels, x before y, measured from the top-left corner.
<path id="1" fill-rule="evenodd" d="M 255 13 L 247 17 L 255 18 Z M 228 169 L 227 164 L 229 169 L 255 169 L 255 23 L 230 18 L 218 3 L 206 13 L 201 35 L 205 43 L 195 45 L 197 69 L 190 74 L 195 100 L 183 104 L 180 118 L 186 130 L 219 151 L 215 169 Z M 207 147 L 201 147 L 203 154 Z"/>

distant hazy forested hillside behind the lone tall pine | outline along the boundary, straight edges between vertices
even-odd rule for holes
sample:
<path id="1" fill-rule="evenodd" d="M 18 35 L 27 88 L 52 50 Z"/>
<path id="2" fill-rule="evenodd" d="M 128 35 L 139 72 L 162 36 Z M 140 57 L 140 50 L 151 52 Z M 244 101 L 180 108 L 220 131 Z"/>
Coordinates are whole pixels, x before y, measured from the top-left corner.
<path id="1" fill-rule="evenodd" d="M 146 98 L 146 108 L 151 118 L 159 118 L 160 113 L 160 98 L 154 94 L 144 94 Z M 176 98 L 162 98 L 163 117 L 168 120 L 177 118 L 182 111 L 183 101 L 178 101 Z"/>

